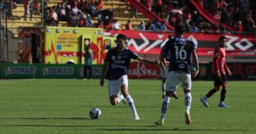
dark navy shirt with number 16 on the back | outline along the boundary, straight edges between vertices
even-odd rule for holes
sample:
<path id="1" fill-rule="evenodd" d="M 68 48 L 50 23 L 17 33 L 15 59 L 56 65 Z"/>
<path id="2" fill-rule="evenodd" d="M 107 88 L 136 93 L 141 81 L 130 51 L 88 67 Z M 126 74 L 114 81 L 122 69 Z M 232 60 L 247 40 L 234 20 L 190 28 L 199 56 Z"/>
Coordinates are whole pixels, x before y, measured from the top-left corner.
<path id="1" fill-rule="evenodd" d="M 193 41 L 182 37 L 175 37 L 165 43 L 161 52 L 170 56 L 169 71 L 179 71 L 191 74 L 190 55 L 192 50 L 196 50 L 196 44 Z"/>

